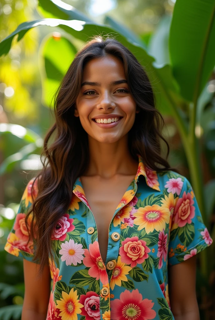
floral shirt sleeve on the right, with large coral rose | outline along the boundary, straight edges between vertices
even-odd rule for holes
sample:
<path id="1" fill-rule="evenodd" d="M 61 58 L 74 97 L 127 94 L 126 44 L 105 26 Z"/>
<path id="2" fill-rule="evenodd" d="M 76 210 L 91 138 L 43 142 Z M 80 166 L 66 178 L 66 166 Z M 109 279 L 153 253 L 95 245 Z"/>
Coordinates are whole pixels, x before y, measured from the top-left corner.
<path id="1" fill-rule="evenodd" d="M 211 245 L 212 242 L 204 225 L 193 188 L 184 177 L 172 217 L 168 246 L 169 265 L 191 258 Z"/>

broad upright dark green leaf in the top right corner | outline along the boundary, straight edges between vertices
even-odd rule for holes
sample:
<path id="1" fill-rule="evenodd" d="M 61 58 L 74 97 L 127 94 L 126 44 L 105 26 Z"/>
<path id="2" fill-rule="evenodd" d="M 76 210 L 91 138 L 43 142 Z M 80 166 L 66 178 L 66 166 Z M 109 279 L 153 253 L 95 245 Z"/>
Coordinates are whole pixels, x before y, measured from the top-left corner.
<path id="1" fill-rule="evenodd" d="M 215 65 L 215 1 L 176 1 L 170 59 L 181 95 L 196 101 Z"/>

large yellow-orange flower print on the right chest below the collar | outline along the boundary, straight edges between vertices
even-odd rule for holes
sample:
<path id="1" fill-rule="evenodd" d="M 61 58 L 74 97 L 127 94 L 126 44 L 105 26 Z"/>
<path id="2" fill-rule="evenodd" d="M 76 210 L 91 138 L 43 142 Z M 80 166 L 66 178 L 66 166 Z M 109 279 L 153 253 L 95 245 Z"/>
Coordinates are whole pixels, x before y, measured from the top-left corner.
<path id="1" fill-rule="evenodd" d="M 170 220 L 169 209 L 157 204 L 140 207 L 133 215 L 136 217 L 134 224 L 139 226 L 138 231 L 145 228 L 147 234 L 154 230 L 162 231 Z"/>

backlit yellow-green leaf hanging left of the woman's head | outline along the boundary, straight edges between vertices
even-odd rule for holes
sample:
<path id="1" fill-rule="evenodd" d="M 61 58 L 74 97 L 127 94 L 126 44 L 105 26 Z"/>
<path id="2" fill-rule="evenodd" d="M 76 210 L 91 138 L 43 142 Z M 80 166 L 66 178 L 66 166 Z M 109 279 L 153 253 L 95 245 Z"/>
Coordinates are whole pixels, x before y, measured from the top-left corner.
<path id="1" fill-rule="evenodd" d="M 62 59 L 63 52 L 63 59 Z M 42 103 L 53 107 L 53 96 L 60 81 L 66 74 L 77 50 L 65 37 L 53 33 L 45 37 L 40 47 L 41 76 L 42 76 Z"/>

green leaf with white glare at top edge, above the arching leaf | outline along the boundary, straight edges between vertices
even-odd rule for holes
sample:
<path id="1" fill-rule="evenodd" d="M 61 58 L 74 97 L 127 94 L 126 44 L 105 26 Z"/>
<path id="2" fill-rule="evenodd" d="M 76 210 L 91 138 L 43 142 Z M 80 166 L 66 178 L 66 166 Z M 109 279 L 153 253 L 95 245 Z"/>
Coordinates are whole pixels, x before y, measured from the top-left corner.
<path id="1" fill-rule="evenodd" d="M 84 13 L 60 0 L 38 0 L 37 10 L 45 18 L 75 19 L 92 22 Z"/>

